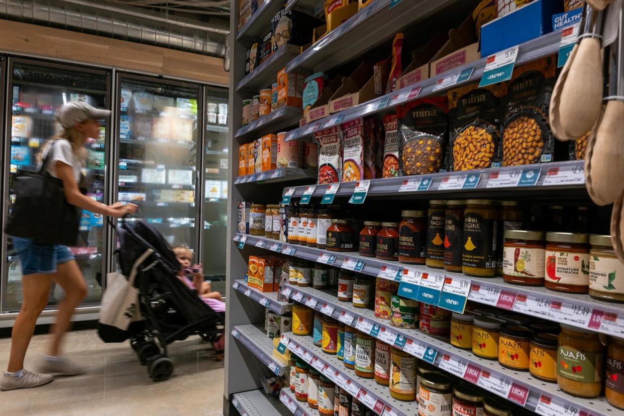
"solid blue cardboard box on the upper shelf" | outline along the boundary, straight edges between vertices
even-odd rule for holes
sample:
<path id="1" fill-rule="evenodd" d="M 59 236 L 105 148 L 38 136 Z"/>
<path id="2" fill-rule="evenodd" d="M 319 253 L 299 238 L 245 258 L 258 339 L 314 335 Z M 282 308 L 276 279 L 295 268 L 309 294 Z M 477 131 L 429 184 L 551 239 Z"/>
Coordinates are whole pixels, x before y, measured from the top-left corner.
<path id="1" fill-rule="evenodd" d="M 552 32 L 552 16 L 563 11 L 561 0 L 534 0 L 481 27 L 481 57 Z"/>

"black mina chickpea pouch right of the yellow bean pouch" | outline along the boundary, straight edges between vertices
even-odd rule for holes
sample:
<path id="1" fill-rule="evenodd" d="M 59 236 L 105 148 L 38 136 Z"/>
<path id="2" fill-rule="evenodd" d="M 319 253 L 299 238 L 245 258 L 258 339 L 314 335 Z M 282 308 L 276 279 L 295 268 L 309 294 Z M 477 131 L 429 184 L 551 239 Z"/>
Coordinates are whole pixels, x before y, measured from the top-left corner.
<path id="1" fill-rule="evenodd" d="M 504 85 L 503 166 L 554 159 L 555 138 L 548 123 L 548 108 L 556 65 L 552 56 L 522 65 Z"/>

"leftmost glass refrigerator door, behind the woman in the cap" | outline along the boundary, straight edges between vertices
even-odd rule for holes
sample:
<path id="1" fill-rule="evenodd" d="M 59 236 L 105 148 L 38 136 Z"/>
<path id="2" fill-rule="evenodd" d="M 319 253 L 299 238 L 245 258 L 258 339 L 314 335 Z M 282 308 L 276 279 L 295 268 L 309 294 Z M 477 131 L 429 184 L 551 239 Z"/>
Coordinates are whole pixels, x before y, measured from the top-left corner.
<path id="1" fill-rule="evenodd" d="M 9 62 L 9 89 L 11 117 L 7 122 L 7 150 L 5 163 L 5 200 L 12 201 L 11 183 L 17 169 L 35 170 L 37 154 L 44 143 L 61 126 L 54 120 L 54 112 L 64 102 L 84 101 L 99 108 L 110 108 L 109 75 L 99 70 L 27 60 Z M 8 109 L 7 109 L 8 110 Z M 107 157 L 106 124 L 102 120 L 99 137 L 85 143 L 85 160 L 81 186 L 87 195 L 105 201 L 105 164 Z M 4 207 L 4 219 L 11 209 Z M 6 263 L 4 264 L 4 311 L 19 310 L 22 303 L 21 264 L 12 246 L 11 237 L 4 235 Z M 83 211 L 80 220 L 79 246 L 70 248 L 78 262 L 89 291 L 84 302 L 94 304 L 102 295 L 105 229 L 102 216 Z M 48 298 L 48 307 L 62 299 L 62 289 L 54 284 Z"/>

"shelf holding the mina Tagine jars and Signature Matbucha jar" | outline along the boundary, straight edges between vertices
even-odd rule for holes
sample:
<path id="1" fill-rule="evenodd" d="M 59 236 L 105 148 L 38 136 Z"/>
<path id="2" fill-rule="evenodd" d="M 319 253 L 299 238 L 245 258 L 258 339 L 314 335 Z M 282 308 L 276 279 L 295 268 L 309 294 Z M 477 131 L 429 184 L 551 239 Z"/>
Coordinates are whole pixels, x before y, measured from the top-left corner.
<path id="1" fill-rule="evenodd" d="M 235 241 L 242 235 L 235 235 Z M 448 273 L 442 269 L 401 264 L 359 256 L 358 253 L 336 253 L 297 244 L 280 243 L 270 238 L 248 235 L 245 244 L 255 245 L 300 259 L 346 268 L 353 261 L 362 261 L 360 273 L 369 276 L 401 281 L 405 273 L 420 280 L 422 274 L 441 274 L 470 281 L 468 300 L 500 307 L 509 311 L 540 317 L 582 329 L 624 337 L 624 304 L 603 302 L 587 294 L 571 294 L 505 283 L 502 278 L 475 278 L 461 273 Z M 351 261 L 348 261 L 348 260 Z M 353 269 L 353 268 L 351 268 Z M 407 272 L 405 272 L 407 271 Z M 391 278 L 390 276 L 394 276 Z M 444 304 L 439 304 L 445 307 Z"/>

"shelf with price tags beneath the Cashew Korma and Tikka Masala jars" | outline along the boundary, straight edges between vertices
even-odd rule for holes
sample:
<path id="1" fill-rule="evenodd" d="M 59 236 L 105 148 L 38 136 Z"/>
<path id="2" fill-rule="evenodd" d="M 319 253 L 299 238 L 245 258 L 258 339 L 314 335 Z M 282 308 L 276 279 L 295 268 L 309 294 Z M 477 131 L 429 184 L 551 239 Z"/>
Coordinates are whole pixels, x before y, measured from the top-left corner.
<path id="1" fill-rule="evenodd" d="M 418 402 L 393 399 L 388 386 L 377 384 L 374 379 L 359 377 L 353 370 L 344 367 L 343 362 L 335 355 L 324 354 L 320 347 L 314 345 L 312 337 L 297 336 L 292 332 L 288 332 L 286 336 L 288 349 L 293 354 L 326 375 L 376 414 L 412 416 L 418 413 Z"/>

